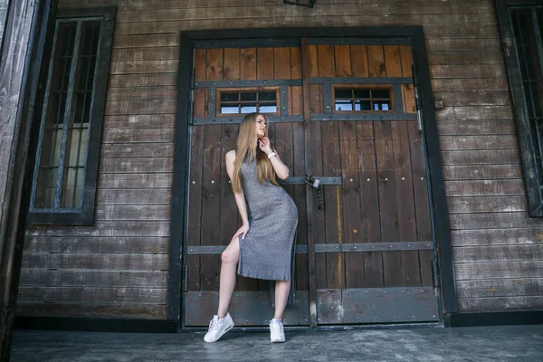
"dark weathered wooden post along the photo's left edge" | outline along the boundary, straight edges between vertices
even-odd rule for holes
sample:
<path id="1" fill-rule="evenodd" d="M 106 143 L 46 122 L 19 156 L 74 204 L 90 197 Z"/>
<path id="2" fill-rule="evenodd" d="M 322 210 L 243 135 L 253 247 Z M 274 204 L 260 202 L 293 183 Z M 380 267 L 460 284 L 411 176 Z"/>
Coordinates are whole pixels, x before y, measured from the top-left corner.
<path id="1" fill-rule="evenodd" d="M 43 105 L 43 54 L 51 52 L 56 0 L 11 1 L 0 59 L 0 361 L 9 360 L 21 274 L 36 132 Z M 51 43 L 51 41 L 49 42 Z M 46 46 L 47 45 L 47 46 Z M 39 112 L 36 112 L 39 113 Z"/>

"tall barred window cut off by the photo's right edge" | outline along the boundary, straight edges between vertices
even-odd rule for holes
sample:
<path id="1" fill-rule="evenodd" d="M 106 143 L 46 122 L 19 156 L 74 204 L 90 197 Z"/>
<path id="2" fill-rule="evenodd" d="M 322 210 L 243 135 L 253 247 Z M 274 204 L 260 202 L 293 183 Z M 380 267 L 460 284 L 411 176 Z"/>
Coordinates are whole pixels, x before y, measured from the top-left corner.
<path id="1" fill-rule="evenodd" d="M 530 216 L 543 216 L 543 6 L 497 0 Z"/>

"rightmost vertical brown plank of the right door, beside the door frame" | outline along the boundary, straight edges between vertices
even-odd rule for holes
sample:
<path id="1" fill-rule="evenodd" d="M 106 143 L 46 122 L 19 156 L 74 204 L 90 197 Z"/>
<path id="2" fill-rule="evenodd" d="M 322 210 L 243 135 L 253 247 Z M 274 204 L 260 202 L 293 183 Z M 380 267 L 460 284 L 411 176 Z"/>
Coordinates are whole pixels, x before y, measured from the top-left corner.
<path id="1" fill-rule="evenodd" d="M 414 210 L 416 216 L 417 240 L 432 240 L 432 219 L 430 215 L 429 191 L 426 184 L 426 166 L 424 163 L 424 146 L 422 133 L 416 121 L 407 124 L 409 148 L 411 150 L 411 169 L 413 173 Z M 433 285 L 434 251 L 419 251 L 421 283 L 423 286 Z"/>

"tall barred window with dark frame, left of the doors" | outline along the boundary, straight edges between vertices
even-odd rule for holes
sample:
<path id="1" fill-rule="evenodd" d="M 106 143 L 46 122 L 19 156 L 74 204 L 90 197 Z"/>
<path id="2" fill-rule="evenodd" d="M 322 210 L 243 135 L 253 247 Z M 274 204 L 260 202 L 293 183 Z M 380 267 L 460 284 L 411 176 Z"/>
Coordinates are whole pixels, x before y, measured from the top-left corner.
<path id="1" fill-rule="evenodd" d="M 30 224 L 92 222 L 114 18 L 104 10 L 56 21 L 51 61 L 43 67 Z"/>

